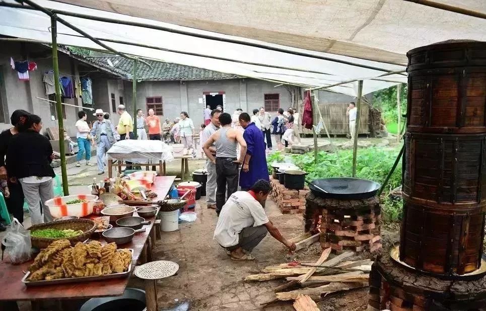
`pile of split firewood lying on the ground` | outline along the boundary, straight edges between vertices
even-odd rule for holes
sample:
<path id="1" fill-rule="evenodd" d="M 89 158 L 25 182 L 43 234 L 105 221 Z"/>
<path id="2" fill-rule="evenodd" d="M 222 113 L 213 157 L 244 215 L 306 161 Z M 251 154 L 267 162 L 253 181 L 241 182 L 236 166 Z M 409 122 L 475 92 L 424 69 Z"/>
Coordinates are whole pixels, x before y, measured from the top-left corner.
<path id="1" fill-rule="evenodd" d="M 331 248 L 325 249 L 314 263 L 292 262 L 267 266 L 262 269 L 262 273 L 247 276 L 245 281 L 261 282 L 285 278 L 288 282 L 274 289 L 275 299 L 262 305 L 295 300 L 294 307 L 298 311 L 318 310 L 313 300 L 321 300 L 330 293 L 368 286 L 372 264 L 369 259 L 344 261 L 354 255 L 353 252 L 328 259 L 330 253 Z"/>

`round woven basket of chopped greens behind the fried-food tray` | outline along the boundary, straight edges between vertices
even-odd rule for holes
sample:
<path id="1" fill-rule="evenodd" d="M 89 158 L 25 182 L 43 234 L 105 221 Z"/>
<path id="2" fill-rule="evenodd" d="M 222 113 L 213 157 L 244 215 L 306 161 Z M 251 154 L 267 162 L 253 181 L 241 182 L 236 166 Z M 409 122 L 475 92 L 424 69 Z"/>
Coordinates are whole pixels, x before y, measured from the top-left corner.
<path id="1" fill-rule="evenodd" d="M 72 245 L 89 239 L 96 229 L 90 219 L 70 219 L 35 224 L 31 226 L 30 239 L 32 247 L 46 248 L 56 240 L 68 240 Z"/>

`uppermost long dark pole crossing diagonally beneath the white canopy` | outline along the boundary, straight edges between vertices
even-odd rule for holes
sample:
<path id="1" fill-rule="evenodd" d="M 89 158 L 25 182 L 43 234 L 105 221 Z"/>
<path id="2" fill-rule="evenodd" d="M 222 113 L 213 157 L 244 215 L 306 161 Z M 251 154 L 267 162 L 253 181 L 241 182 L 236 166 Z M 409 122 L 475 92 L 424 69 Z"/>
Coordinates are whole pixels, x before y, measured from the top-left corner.
<path id="1" fill-rule="evenodd" d="M 30 0 L 26 0 L 26 1 L 16 0 L 16 1 L 19 2 L 20 4 L 27 3 L 30 7 L 26 7 L 24 5 L 8 4 L 8 3 L 1 3 L 0 6 L 10 7 L 10 8 L 18 8 L 18 9 L 26 9 L 26 10 L 40 10 L 40 11 L 43 11 L 43 12 L 44 12 L 44 10 L 46 10 L 46 9 L 40 7 L 39 5 L 32 3 L 32 1 L 30 1 Z M 310 57 L 310 58 L 315 58 L 315 59 L 322 59 L 322 60 L 328 60 L 328 61 L 332 61 L 332 62 L 342 63 L 342 64 L 346 64 L 346 65 L 358 66 L 358 67 L 367 68 L 367 69 L 379 70 L 379 71 L 384 71 L 384 72 L 392 72 L 391 70 L 385 69 L 385 68 L 380 68 L 380 67 L 376 67 L 376 66 L 369 66 L 369 65 L 360 64 L 360 63 L 351 62 L 351 61 L 346 61 L 346 60 L 341 60 L 341 59 L 334 59 L 334 58 L 331 58 L 331 57 L 316 55 L 316 54 L 313 54 L 313 53 L 310 53 L 310 52 L 305 52 L 305 51 L 295 51 L 295 50 L 291 50 L 291 49 L 288 49 L 288 48 L 285 48 L 285 47 L 273 46 L 269 43 L 265 44 L 265 43 L 261 43 L 261 42 L 250 42 L 250 41 L 245 40 L 245 39 L 218 37 L 217 35 L 200 34 L 200 33 L 185 31 L 185 30 L 182 30 L 182 29 L 174 29 L 174 28 L 170 28 L 170 27 L 164 27 L 164 26 L 160 26 L 160 25 L 151 25 L 151 24 L 146 24 L 146 23 L 137 23 L 137 22 L 118 20 L 118 19 L 110 19 L 110 18 L 99 17 L 99 16 L 95 16 L 95 15 L 86 15 L 86 14 L 80 14 L 80 13 L 74 13 L 74 12 L 56 10 L 56 9 L 49 9 L 49 12 L 52 12 L 52 14 L 73 16 L 73 17 L 78 17 L 78 18 L 83 18 L 83 19 L 89 19 L 89 20 L 92 20 L 92 21 L 99 21 L 99 22 L 114 23 L 114 24 L 119 24 L 119 25 L 128 25 L 128 26 L 143 27 L 143 28 L 149 28 L 149 29 L 155 29 L 155 30 L 162 30 L 162 31 L 166 31 L 166 32 L 174 33 L 174 34 L 186 35 L 186 36 L 191 36 L 191 37 L 195 37 L 195 38 L 209 39 L 209 40 L 227 42 L 227 43 L 234 43 L 234 44 L 241 44 L 241 45 L 257 47 L 257 48 L 275 51 L 275 52 L 287 53 L 287 54 L 291 54 L 291 55 L 305 56 L 305 57 Z M 70 27 L 70 26 L 68 26 L 68 27 Z M 392 63 L 392 64 L 402 65 L 400 63 Z"/>

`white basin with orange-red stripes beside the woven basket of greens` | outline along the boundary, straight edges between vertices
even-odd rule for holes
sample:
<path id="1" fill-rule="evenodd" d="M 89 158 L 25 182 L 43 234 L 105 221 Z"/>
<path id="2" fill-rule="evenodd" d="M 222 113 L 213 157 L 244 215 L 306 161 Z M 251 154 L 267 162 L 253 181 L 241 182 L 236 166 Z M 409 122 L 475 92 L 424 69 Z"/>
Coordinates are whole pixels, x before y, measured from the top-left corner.
<path id="1" fill-rule="evenodd" d="M 49 207 L 52 217 L 59 218 L 64 216 L 84 217 L 93 212 L 93 205 L 98 196 L 93 194 L 75 194 L 64 197 L 55 197 L 45 202 Z M 84 200 L 82 203 L 66 204 L 73 200 Z"/>

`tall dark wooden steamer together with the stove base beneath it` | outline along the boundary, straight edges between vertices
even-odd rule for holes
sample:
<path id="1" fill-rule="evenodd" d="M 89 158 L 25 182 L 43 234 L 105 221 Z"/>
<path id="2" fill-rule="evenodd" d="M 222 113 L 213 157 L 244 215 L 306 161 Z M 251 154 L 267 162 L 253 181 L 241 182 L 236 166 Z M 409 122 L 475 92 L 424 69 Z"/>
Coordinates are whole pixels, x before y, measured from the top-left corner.
<path id="1" fill-rule="evenodd" d="M 370 273 L 368 311 L 486 310 L 486 42 L 408 56 L 400 244 Z"/>

